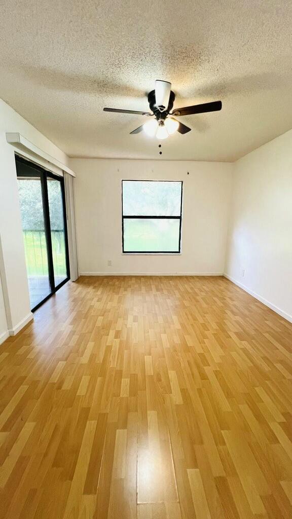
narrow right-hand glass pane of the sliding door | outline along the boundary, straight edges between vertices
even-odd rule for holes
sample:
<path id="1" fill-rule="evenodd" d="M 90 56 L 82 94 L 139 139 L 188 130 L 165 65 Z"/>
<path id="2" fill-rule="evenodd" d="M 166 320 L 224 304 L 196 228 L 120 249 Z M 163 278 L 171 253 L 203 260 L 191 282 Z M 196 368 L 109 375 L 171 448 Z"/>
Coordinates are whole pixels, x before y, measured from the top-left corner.
<path id="1" fill-rule="evenodd" d="M 67 278 L 63 198 L 59 180 L 47 177 L 55 286 Z"/>

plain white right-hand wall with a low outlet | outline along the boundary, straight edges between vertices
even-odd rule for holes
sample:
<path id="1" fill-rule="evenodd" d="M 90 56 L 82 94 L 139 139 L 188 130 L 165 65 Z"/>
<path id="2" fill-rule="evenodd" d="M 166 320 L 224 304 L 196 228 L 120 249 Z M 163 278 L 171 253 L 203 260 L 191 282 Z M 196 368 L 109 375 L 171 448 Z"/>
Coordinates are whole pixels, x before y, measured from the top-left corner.
<path id="1" fill-rule="evenodd" d="M 238 160 L 233 182 L 225 271 L 292 321 L 292 130 Z"/>

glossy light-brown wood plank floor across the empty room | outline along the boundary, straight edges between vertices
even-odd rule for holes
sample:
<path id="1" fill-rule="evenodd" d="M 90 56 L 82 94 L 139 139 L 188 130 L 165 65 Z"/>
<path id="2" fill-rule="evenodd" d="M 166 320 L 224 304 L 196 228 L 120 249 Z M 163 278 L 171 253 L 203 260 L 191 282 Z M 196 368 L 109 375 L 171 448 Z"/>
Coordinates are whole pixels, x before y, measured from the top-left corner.
<path id="1" fill-rule="evenodd" d="M 291 343 L 224 278 L 65 285 L 0 347 L 0 516 L 291 519 Z"/>

